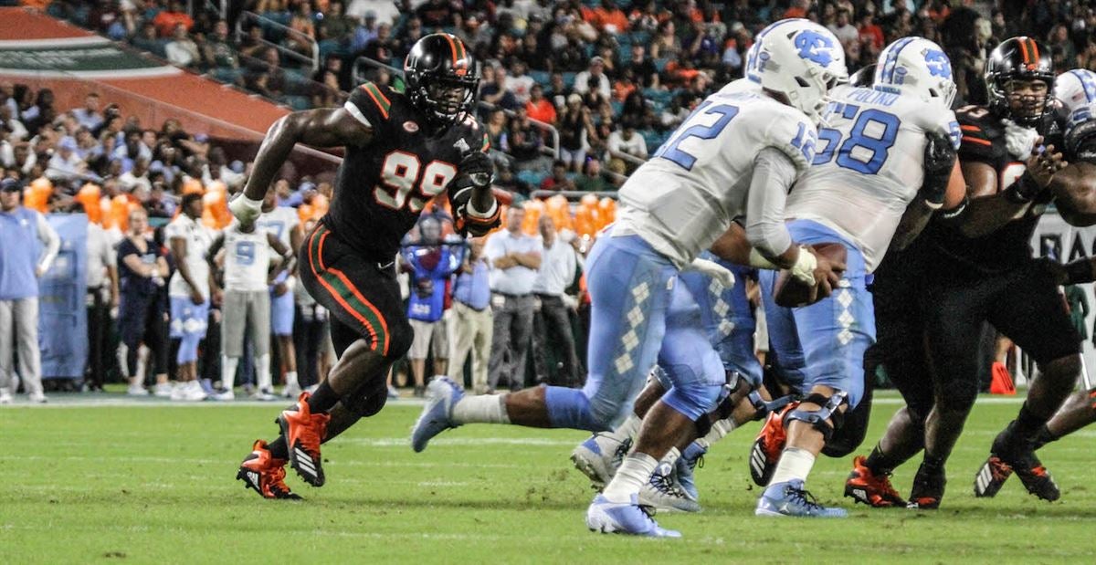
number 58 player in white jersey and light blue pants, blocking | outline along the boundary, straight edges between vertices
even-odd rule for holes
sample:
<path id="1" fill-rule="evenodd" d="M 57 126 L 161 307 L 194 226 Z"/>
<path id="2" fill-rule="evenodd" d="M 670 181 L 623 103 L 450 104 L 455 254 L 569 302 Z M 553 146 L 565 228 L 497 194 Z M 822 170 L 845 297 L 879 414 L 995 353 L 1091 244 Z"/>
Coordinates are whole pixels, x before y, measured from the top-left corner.
<path id="1" fill-rule="evenodd" d="M 804 397 L 767 424 L 785 426 L 787 439 L 778 462 L 763 473 L 770 476 L 758 516 L 846 516 L 814 503 L 803 484 L 864 393 L 864 351 L 875 342 L 868 277 L 897 231 L 909 241 L 946 200 L 961 206 L 962 183 L 948 194 L 960 139 L 950 109 L 955 90 L 944 50 L 906 37 L 882 51 L 872 88 L 833 92 L 813 165 L 796 183 L 785 214 L 796 241 L 842 245 L 846 269 L 830 297 L 801 308 L 777 304 L 777 273 L 760 273 L 775 369 Z"/>

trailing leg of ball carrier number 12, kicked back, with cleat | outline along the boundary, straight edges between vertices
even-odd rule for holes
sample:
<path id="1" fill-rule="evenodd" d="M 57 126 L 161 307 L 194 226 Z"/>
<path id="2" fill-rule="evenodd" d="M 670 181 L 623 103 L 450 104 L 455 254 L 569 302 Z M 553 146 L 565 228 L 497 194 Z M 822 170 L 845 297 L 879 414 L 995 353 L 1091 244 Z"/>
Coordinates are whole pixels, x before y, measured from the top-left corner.
<path id="1" fill-rule="evenodd" d="M 638 237 L 598 239 L 587 260 L 593 300 L 590 378 L 583 389 L 537 387 L 501 396 L 465 396 L 452 381 L 435 380 L 438 393 L 412 433 L 412 447 L 468 423 L 517 424 L 601 431 L 631 408 L 642 376 L 662 344 L 673 265 Z M 628 289 L 621 291 L 621 289 Z M 507 299 L 509 301 L 509 299 Z M 496 326 L 498 327 L 498 326 Z"/>

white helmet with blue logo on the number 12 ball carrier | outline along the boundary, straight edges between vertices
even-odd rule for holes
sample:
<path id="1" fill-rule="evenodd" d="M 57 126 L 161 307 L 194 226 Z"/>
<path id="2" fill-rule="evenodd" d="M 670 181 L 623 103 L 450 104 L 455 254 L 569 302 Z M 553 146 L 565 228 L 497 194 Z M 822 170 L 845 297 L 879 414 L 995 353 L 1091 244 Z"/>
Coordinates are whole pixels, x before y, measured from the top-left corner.
<path id="1" fill-rule="evenodd" d="M 848 79 L 837 37 L 809 20 L 780 20 L 762 30 L 746 53 L 747 79 L 787 96 L 791 106 L 818 123 L 829 92 Z"/>

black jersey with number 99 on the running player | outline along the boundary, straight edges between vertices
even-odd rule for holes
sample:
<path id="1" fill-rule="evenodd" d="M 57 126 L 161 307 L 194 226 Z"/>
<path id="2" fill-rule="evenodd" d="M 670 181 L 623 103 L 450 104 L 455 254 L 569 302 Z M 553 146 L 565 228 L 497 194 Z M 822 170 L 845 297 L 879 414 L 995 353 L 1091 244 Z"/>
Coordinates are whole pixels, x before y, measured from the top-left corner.
<path id="1" fill-rule="evenodd" d="M 354 251 L 388 262 L 461 158 L 488 149 L 487 134 L 472 117 L 432 131 L 402 93 L 372 82 L 354 89 L 345 108 L 373 128 L 373 140 L 346 147 L 322 221 Z"/>

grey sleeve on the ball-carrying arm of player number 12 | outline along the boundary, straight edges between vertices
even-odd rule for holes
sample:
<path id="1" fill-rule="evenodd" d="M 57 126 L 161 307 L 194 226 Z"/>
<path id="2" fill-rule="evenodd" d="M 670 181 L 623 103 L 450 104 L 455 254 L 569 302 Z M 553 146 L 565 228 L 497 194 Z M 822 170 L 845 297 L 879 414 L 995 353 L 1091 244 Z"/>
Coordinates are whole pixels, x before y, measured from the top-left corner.
<path id="1" fill-rule="evenodd" d="M 767 147 L 754 158 L 746 196 L 746 239 L 766 256 L 779 255 L 791 246 L 791 235 L 784 226 L 784 205 L 796 176 L 796 165 L 778 149 Z"/>

